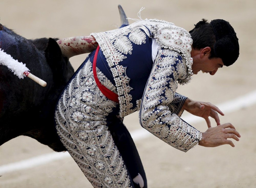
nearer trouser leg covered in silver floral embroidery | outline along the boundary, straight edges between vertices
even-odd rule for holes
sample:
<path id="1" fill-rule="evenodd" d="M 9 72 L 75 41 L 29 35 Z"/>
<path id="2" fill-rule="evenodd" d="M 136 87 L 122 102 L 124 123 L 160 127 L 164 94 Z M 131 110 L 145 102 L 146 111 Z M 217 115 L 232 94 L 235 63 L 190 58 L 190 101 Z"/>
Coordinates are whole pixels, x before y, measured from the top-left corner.
<path id="1" fill-rule="evenodd" d="M 92 73 L 88 62 L 65 89 L 56 109 L 57 133 L 93 187 L 134 187 L 107 128 L 117 103 L 102 95 Z"/>

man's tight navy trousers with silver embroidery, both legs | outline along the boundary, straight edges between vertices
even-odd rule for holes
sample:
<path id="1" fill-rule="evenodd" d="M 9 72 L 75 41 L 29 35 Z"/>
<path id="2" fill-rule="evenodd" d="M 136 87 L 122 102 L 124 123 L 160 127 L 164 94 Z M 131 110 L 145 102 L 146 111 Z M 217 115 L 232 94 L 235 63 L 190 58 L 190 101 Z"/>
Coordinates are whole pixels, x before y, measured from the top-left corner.
<path id="1" fill-rule="evenodd" d="M 119 105 L 99 90 L 90 59 L 89 55 L 59 99 L 57 133 L 93 187 L 146 188 L 136 146 L 118 117 Z M 98 69 L 97 76 L 108 82 Z"/>

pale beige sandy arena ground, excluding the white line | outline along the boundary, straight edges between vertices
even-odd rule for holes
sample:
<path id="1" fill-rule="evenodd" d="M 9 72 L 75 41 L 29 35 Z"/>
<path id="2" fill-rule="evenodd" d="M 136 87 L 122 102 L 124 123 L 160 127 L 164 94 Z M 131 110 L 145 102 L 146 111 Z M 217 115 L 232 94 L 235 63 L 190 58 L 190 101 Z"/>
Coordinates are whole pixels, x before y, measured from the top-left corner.
<path id="1" fill-rule="evenodd" d="M 220 69 L 214 77 L 199 73 L 178 92 L 194 100 L 221 104 L 254 91 L 256 70 L 256 1 L 254 0 L 158 0 L 158 1 L 0 1 L 0 23 L 26 38 L 87 36 L 120 26 L 117 6 L 130 18 L 157 18 L 190 30 L 200 19 L 228 20 L 240 43 L 238 61 Z M 132 23 L 133 20 L 130 20 Z M 75 69 L 87 54 L 70 59 Z M 254 188 L 256 187 L 256 105 L 227 113 L 222 123 L 231 122 L 241 134 L 235 147 L 197 146 L 187 153 L 178 151 L 154 136 L 136 141 L 149 188 Z M 186 114 L 184 114 L 185 116 Z M 138 114 L 125 118 L 131 131 L 141 129 Z M 1 122 L 0 122 L 1 123 Z M 190 122 L 188 122 L 190 123 Z M 205 122 L 192 124 L 205 131 Z M 215 126 L 212 121 L 212 125 Z M 17 137 L 0 146 L 1 165 L 51 153 L 32 138 Z M 92 187 L 71 157 L 38 167 L 0 174 L 1 188 L 85 188 Z"/>

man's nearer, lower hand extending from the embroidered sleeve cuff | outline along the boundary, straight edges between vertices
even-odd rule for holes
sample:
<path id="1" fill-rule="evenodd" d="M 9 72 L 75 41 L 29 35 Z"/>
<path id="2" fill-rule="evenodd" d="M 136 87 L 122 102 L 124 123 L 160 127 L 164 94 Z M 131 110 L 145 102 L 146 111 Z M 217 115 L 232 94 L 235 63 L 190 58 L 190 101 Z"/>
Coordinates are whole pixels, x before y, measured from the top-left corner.
<path id="1" fill-rule="evenodd" d="M 235 145 L 231 140 L 227 138 L 233 138 L 239 141 L 241 135 L 235 130 L 235 127 L 231 123 L 225 123 L 216 127 L 210 127 L 206 132 L 202 133 L 202 140 L 199 141 L 199 145 L 205 147 L 216 147 L 224 144 L 229 144 L 232 147 Z"/>

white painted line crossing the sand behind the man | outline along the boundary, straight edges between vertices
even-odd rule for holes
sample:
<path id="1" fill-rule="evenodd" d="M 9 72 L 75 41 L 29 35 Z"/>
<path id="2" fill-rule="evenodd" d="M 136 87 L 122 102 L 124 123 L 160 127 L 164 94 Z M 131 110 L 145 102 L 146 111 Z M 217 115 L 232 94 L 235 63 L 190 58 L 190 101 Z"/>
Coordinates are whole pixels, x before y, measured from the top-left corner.
<path id="1" fill-rule="evenodd" d="M 252 106 L 254 104 L 256 104 L 256 90 L 248 93 L 247 95 L 238 97 L 234 100 L 230 100 L 216 106 L 218 106 L 218 108 L 221 109 L 224 114 L 227 114 L 233 111 L 237 111 L 237 110 Z M 189 124 L 195 124 L 204 120 L 203 118 L 193 116 L 193 115 L 184 116 L 182 117 L 182 119 L 184 119 Z M 131 137 L 133 137 L 134 141 L 142 140 L 146 137 L 149 137 L 149 135 L 151 135 L 151 133 L 149 133 L 143 128 L 131 132 Z M 5 164 L 0 166 L 0 175 L 8 172 L 37 167 L 42 164 L 46 164 L 56 160 L 61 160 L 68 157 L 71 158 L 68 152 L 61 152 L 61 153 L 52 152 L 52 153 L 36 156 L 30 159 L 14 162 L 10 164 Z"/>

